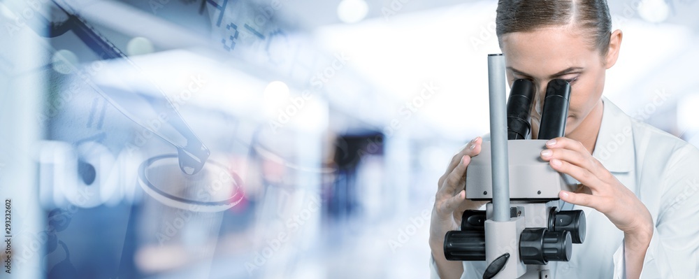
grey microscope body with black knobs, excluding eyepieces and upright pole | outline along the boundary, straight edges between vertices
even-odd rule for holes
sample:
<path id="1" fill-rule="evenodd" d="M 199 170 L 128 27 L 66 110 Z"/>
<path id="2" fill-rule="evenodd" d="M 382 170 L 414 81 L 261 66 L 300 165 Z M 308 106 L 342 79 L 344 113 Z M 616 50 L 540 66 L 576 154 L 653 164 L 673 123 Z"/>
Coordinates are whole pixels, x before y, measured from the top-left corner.
<path id="1" fill-rule="evenodd" d="M 484 211 L 466 210 L 461 231 L 449 231 L 445 238 L 447 259 L 493 263 L 507 253 L 517 261 L 517 269 L 499 273 L 501 278 L 552 278 L 546 264 L 570 260 L 572 243 L 584 241 L 585 216 L 582 210 L 559 210 L 559 192 L 572 191 L 575 185 L 566 183 L 563 174 L 540 159 L 545 142 L 507 142 L 510 222 L 491 221 L 492 203 Z M 490 152 L 490 142 L 484 141 L 480 154 L 468 165 L 467 199 L 492 199 Z"/>

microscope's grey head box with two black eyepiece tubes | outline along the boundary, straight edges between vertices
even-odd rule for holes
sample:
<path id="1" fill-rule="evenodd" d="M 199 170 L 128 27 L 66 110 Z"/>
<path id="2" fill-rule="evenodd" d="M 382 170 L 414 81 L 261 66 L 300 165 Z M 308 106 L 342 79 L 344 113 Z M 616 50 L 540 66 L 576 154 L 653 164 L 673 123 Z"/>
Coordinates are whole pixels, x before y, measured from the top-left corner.
<path id="1" fill-rule="evenodd" d="M 559 199 L 564 189 L 575 190 L 568 185 L 563 174 L 554 171 L 548 162 L 540 158 L 546 148 L 546 140 L 564 136 L 568 118 L 570 84 L 565 80 L 551 80 L 546 88 L 542 108 L 538 140 L 526 140 L 531 126 L 529 116 L 535 94 L 530 80 L 515 80 L 507 100 L 507 153 L 510 171 L 510 199 L 512 201 L 552 201 Z M 479 155 L 471 159 L 466 170 L 466 198 L 491 200 L 493 198 L 491 145 L 484 141 Z"/>

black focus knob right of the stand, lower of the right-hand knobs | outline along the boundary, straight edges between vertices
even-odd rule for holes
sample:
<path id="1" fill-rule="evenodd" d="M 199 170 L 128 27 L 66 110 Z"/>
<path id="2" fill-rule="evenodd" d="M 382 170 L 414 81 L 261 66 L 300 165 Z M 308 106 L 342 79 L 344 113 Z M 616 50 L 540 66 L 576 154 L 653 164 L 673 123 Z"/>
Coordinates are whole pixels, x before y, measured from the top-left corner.
<path id="1" fill-rule="evenodd" d="M 572 254 L 570 231 L 528 228 L 519 237 L 519 256 L 524 264 L 568 262 Z"/>

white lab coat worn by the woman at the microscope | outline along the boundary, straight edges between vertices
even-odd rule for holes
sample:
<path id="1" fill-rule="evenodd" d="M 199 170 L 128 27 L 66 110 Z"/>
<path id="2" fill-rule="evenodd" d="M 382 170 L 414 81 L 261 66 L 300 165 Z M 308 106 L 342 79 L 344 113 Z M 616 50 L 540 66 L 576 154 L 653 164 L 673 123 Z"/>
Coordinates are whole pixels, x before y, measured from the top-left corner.
<path id="1" fill-rule="evenodd" d="M 648 208 L 655 224 L 641 278 L 699 278 L 699 150 L 626 115 L 603 98 L 593 156 Z M 570 205 L 569 205 L 570 206 Z M 570 262 L 549 262 L 554 278 L 626 278 L 624 234 L 584 206 L 587 236 Z M 463 276 L 482 278 L 484 262 L 463 262 Z M 439 278 L 434 259 L 431 278 Z"/>

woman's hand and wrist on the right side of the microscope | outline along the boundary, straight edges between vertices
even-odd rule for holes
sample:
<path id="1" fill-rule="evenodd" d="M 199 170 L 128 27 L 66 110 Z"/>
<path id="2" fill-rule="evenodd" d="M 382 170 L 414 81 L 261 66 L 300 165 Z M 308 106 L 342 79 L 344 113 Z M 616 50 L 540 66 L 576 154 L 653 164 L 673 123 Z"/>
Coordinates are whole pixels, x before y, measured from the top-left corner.
<path id="1" fill-rule="evenodd" d="M 541 158 L 554 170 L 582 183 L 575 192 L 561 191 L 559 197 L 568 203 L 595 208 L 624 231 L 626 276 L 640 276 L 653 235 L 653 219 L 646 206 L 579 141 L 560 137 L 547 141 L 546 146 Z"/>

